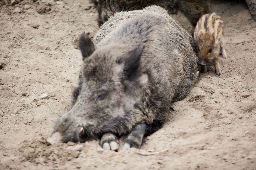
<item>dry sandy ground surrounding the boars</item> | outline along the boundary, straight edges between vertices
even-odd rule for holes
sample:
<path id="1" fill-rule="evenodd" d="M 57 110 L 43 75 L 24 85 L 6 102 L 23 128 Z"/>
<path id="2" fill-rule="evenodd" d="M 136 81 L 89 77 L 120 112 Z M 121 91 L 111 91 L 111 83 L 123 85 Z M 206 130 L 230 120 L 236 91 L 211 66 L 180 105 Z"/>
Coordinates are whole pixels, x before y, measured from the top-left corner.
<path id="1" fill-rule="evenodd" d="M 46 143 L 71 107 L 82 63 L 77 37 L 99 29 L 92 4 L 0 0 L 0 169 L 255 170 L 256 23 L 243 1 L 214 1 L 212 10 L 225 23 L 223 74 L 208 66 L 140 150 L 114 152 L 99 141 Z M 172 16 L 192 29 L 181 12 Z"/>

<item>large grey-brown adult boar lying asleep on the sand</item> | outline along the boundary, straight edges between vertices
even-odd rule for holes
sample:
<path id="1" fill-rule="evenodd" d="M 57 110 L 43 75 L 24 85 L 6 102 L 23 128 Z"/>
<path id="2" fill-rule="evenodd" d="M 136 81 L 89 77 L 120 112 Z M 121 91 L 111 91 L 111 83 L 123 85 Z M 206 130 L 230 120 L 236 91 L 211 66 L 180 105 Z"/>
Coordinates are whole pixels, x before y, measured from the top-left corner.
<path id="1" fill-rule="evenodd" d="M 79 48 L 79 87 L 50 144 L 100 139 L 105 150 L 117 150 L 118 138 L 126 135 L 122 149 L 139 148 L 199 74 L 192 37 L 158 6 L 116 13 L 94 42 L 83 33 Z"/>

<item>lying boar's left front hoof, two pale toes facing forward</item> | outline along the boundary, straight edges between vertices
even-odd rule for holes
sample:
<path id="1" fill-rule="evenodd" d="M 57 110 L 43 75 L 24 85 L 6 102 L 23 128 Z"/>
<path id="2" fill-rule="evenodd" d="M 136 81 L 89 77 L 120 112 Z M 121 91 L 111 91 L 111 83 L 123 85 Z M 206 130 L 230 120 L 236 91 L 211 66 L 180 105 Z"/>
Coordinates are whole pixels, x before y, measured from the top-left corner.
<path id="1" fill-rule="evenodd" d="M 112 133 L 105 133 L 101 137 L 99 144 L 104 150 L 117 151 L 119 148 L 117 144 L 117 137 Z"/>

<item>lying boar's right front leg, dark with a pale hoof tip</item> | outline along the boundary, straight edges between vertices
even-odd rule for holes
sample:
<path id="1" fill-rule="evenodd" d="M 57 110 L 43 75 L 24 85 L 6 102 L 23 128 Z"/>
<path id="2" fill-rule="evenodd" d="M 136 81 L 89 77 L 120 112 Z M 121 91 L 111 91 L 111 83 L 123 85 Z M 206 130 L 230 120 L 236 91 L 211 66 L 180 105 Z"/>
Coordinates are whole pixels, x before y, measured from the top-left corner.
<path id="1" fill-rule="evenodd" d="M 129 148 L 140 148 L 146 129 L 147 125 L 145 123 L 134 126 L 133 130 L 123 140 L 122 150 L 125 151 Z"/>

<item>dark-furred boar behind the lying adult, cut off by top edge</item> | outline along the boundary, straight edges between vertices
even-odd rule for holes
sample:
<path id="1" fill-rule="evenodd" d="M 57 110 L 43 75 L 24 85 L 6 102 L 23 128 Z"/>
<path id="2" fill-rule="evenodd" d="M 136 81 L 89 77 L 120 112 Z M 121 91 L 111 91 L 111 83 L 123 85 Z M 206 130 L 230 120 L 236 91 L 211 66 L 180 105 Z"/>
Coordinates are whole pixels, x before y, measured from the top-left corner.
<path id="1" fill-rule="evenodd" d="M 179 8 L 193 26 L 203 14 L 210 12 L 209 0 L 91 0 L 98 11 L 98 24 L 101 26 L 114 13 L 139 10 L 148 5 L 159 5 L 170 13 Z"/>

